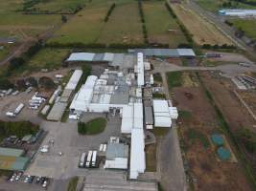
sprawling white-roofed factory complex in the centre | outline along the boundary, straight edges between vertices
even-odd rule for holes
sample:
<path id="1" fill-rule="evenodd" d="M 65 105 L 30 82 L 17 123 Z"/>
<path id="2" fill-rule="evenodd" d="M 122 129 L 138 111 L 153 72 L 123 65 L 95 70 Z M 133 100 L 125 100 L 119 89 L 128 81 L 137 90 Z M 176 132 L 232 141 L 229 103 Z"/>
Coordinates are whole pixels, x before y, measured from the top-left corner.
<path id="1" fill-rule="evenodd" d="M 92 54 L 81 54 L 81 56 L 85 55 L 90 56 L 91 59 L 93 57 Z M 110 60 L 112 56 L 105 57 Z M 75 58 L 73 55 L 72 59 Z M 152 105 L 144 106 L 145 100 L 142 94 L 146 85 L 144 63 L 144 54 L 137 53 L 136 64 L 132 67 L 134 73 L 105 69 L 100 76 L 89 75 L 70 104 L 70 119 L 79 118 L 86 112 L 119 111 L 118 114 L 122 117 L 121 133 L 124 137 L 130 138 L 129 179 L 131 180 L 138 179 L 139 174 L 144 173 L 146 169 L 144 126 L 147 129 L 152 129 L 153 126 L 171 127 L 172 118 L 177 117 L 176 108 L 169 105 L 167 100 L 153 100 Z M 127 169 L 128 146 L 117 142 L 109 143 L 105 168 Z"/>

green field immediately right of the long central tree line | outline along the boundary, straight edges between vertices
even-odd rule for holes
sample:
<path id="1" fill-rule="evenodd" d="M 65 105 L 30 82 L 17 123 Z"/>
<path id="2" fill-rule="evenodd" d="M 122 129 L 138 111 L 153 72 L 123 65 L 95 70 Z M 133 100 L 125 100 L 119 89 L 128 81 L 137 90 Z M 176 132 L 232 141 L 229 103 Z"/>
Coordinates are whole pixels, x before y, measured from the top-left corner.
<path id="1" fill-rule="evenodd" d="M 164 2 L 145 1 L 143 10 L 151 43 L 169 44 L 174 48 L 180 43 L 186 43 L 185 36 L 167 11 Z"/>

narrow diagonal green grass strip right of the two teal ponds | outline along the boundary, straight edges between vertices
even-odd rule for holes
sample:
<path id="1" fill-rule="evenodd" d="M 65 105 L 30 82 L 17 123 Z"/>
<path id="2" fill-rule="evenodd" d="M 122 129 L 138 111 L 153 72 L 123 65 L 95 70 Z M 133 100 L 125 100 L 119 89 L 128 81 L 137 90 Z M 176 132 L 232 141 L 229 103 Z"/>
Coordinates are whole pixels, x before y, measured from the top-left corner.
<path id="1" fill-rule="evenodd" d="M 220 108 L 216 104 L 216 102 L 215 102 L 213 96 L 211 95 L 211 93 L 209 92 L 209 90 L 207 90 L 207 88 L 205 87 L 205 84 L 201 80 L 198 73 L 197 73 L 197 76 L 198 76 L 198 81 L 201 83 L 201 86 L 204 90 L 205 95 L 208 97 L 208 99 L 210 100 L 210 103 L 214 107 L 214 110 L 217 115 L 217 121 L 221 128 L 221 131 L 226 135 L 226 137 L 230 138 L 230 140 L 232 141 L 234 148 L 236 149 L 236 154 L 237 154 L 236 156 L 238 159 L 240 159 L 240 161 L 241 161 L 240 163 L 244 166 L 245 175 L 246 175 L 247 179 L 250 180 L 251 186 L 255 189 L 256 188 L 256 175 L 255 175 L 253 166 L 251 165 L 249 160 L 246 159 L 246 157 L 244 155 L 244 150 L 241 147 L 241 145 L 239 144 L 237 137 L 230 130 L 230 127 L 229 127 L 227 121 L 225 120 L 225 117 L 221 113 Z"/>

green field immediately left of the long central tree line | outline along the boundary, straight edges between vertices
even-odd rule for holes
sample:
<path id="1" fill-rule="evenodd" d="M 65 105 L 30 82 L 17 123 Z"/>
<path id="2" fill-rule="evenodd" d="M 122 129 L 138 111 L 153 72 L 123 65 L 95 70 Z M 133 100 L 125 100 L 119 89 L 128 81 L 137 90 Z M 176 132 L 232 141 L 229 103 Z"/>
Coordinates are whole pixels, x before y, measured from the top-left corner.
<path id="1" fill-rule="evenodd" d="M 140 22 L 138 3 L 117 5 L 101 32 L 100 43 L 143 43 L 142 26 Z"/>

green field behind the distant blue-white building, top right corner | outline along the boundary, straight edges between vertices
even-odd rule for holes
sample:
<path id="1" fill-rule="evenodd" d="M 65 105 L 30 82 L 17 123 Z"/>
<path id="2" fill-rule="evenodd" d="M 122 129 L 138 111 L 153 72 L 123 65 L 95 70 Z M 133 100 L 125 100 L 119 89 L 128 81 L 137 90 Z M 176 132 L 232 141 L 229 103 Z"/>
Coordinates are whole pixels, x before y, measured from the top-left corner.
<path id="1" fill-rule="evenodd" d="M 197 3 L 200 7 L 207 11 L 218 12 L 220 9 L 223 9 L 221 5 L 227 0 L 197 0 Z M 255 6 L 246 5 L 243 3 L 233 2 L 231 8 L 225 9 L 255 9 Z"/>

